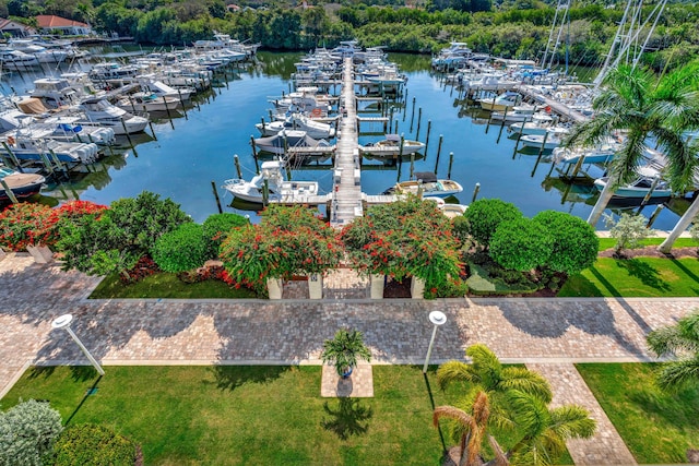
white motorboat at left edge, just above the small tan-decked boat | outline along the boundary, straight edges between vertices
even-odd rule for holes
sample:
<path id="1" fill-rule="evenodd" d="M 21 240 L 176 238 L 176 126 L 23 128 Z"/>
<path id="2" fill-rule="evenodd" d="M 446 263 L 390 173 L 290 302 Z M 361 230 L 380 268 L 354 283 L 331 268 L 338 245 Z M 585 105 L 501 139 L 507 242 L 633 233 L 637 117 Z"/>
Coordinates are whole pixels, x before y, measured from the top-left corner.
<path id="1" fill-rule="evenodd" d="M 90 164 L 99 158 L 99 148 L 93 143 L 61 142 L 49 138 L 39 139 L 36 134 L 15 134 L 0 136 L 0 154 L 19 160 L 52 160 Z"/>

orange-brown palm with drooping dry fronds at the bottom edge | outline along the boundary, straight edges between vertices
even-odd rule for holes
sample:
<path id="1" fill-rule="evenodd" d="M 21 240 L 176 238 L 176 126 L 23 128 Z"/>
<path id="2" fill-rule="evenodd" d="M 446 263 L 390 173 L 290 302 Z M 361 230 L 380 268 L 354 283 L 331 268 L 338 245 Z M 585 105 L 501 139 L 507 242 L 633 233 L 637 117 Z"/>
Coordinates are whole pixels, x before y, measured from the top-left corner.
<path id="1" fill-rule="evenodd" d="M 458 431 L 461 433 L 461 441 L 459 442 L 460 455 L 459 466 L 482 466 L 483 458 L 481 457 L 481 449 L 483 444 L 483 438 L 487 429 L 488 417 L 490 416 L 490 408 L 488 402 L 488 395 L 485 392 L 478 392 L 475 397 L 475 402 L 472 408 L 473 414 L 469 415 L 466 411 L 453 406 L 438 406 L 435 408 L 433 415 L 433 422 L 435 427 L 439 426 L 439 419 L 448 418 L 453 419 L 458 423 Z M 509 462 L 502 453 L 502 449 L 493 437 L 488 437 L 493 451 L 496 452 L 494 461 L 498 466 L 507 466 Z"/>

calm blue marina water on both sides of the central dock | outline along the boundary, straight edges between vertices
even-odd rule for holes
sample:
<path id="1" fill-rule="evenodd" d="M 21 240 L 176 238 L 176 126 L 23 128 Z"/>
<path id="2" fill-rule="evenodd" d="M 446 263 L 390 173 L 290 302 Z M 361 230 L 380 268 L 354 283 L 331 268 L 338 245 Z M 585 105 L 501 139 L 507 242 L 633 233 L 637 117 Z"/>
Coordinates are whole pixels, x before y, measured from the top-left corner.
<path id="1" fill-rule="evenodd" d="M 108 157 L 93 167 L 94 172 L 47 191 L 45 201 L 58 203 L 78 194 L 82 200 L 108 204 L 150 190 L 171 198 L 194 220 L 202 222 L 217 212 L 211 186 L 214 181 L 225 211 L 249 214 L 256 219 L 254 212 L 228 206 L 232 199 L 220 187 L 224 180 L 236 177 L 234 154 L 240 157 L 245 178 L 249 179 L 254 174 L 249 143 L 251 135 L 258 136 L 253 124 L 268 116 L 269 98 L 280 96 L 283 91 L 288 92 L 293 63 L 299 57 L 298 53 L 260 53 L 260 64 L 239 71 L 235 77 L 228 75 L 233 79 L 227 86 L 217 88 L 214 96 L 188 110 L 186 118 L 174 119 L 174 129 L 167 120 L 154 123 L 157 140 L 153 140 L 147 130 L 149 134 L 139 135 L 138 141 L 134 139 L 138 142 L 135 152 L 128 150 L 126 158 L 121 155 Z M 474 187 L 479 183 L 478 198 L 512 202 L 528 216 L 552 208 L 587 218 L 596 200 L 590 188 L 574 186 L 564 199 L 567 187 L 557 180 L 557 170 L 552 172 L 553 178 L 547 176 L 552 170 L 550 163 L 542 159 L 532 176 L 536 154 L 513 154 L 516 142 L 508 139 L 507 130 L 498 143 L 497 124 L 491 126 L 486 134 L 487 115 L 457 101 L 457 91 L 445 87 L 437 76 L 430 74 L 428 57 L 393 55 L 390 59 L 399 62 L 408 76 L 407 104 L 396 107 L 393 117 L 398 120 L 398 132 L 406 139 L 416 139 L 422 108 L 418 139 L 425 141 L 427 122 L 431 121 L 427 154 L 424 159 L 415 162 L 415 171 L 434 171 L 437 166 L 439 177 L 447 177 L 449 154 L 453 153 L 451 178 L 464 186 L 464 192 L 453 202 L 471 203 Z M 32 88 L 32 76 L 23 77 L 13 76 L 13 81 L 4 83 L 5 88 L 12 85 L 17 93 Z M 443 143 L 437 164 L 440 134 Z M 378 135 L 362 136 L 359 142 L 379 139 Z M 362 187 L 369 194 L 384 191 L 399 179 L 396 168 L 383 168 L 376 162 L 367 164 L 371 165 L 365 167 Z M 330 170 L 310 168 L 316 169 L 294 170 L 293 178 L 317 180 L 323 192 L 329 191 L 332 186 Z M 404 163 L 400 180 L 407 180 L 408 176 L 410 163 Z M 648 206 L 643 214 L 650 216 L 654 210 L 655 206 Z M 677 218 L 670 208 L 665 208 L 654 227 L 672 228 Z"/>

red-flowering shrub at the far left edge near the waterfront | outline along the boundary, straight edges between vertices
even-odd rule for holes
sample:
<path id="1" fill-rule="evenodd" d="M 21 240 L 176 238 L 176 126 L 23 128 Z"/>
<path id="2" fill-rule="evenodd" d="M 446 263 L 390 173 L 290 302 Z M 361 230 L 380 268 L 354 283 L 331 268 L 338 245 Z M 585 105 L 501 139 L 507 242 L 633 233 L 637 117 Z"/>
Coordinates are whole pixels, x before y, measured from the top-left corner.
<path id="1" fill-rule="evenodd" d="M 27 246 L 46 243 L 55 222 L 51 208 L 43 204 L 12 204 L 0 214 L 0 247 L 23 251 Z"/>

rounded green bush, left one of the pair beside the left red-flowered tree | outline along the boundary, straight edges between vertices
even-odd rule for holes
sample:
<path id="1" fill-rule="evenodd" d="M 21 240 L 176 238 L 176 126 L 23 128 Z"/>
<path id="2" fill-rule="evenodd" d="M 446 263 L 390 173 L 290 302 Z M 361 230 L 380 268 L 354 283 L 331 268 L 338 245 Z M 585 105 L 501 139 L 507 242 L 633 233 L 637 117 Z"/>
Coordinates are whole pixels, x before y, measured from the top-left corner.
<path id="1" fill-rule="evenodd" d="M 153 260 L 170 273 L 201 267 L 209 256 L 209 241 L 199 224 L 182 224 L 157 239 L 153 248 Z"/>

